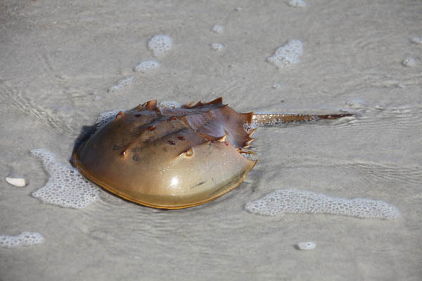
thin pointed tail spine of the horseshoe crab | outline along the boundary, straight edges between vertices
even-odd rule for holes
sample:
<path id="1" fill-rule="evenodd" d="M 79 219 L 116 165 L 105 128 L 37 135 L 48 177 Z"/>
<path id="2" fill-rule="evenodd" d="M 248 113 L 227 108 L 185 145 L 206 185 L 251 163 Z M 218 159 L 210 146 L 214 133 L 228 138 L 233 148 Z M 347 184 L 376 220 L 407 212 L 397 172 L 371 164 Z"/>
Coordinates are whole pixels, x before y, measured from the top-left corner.
<path id="1" fill-rule="evenodd" d="M 339 113 L 332 115 L 295 115 L 291 113 L 254 113 L 252 125 L 254 126 L 276 126 L 285 123 L 316 121 L 321 119 L 339 119 L 355 116 L 354 113 Z"/>

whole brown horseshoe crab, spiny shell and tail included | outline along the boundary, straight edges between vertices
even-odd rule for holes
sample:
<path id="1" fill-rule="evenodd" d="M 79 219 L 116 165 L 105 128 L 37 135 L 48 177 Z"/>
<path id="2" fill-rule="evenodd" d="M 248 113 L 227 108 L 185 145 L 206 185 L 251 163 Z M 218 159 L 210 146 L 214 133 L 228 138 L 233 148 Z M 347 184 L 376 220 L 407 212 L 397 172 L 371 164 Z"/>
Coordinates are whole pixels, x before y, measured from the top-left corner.
<path id="1" fill-rule="evenodd" d="M 283 122 L 352 114 L 238 113 L 217 98 L 177 108 L 157 100 L 119 112 L 73 153 L 73 164 L 94 183 L 127 200 L 182 209 L 215 200 L 240 185 L 257 160 L 250 130 Z"/>

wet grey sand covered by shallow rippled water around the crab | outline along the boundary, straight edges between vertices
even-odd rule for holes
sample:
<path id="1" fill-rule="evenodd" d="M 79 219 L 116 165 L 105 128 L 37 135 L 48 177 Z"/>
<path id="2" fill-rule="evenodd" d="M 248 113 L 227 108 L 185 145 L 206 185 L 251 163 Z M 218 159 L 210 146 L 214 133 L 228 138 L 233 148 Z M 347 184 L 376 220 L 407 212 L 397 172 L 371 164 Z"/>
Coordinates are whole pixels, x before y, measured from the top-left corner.
<path id="1" fill-rule="evenodd" d="M 422 280 L 422 2 L 290 2 L 1 1 L 0 235 L 44 242 L 0 247 L 0 280 Z M 172 46 L 157 54 L 160 34 Z M 289 40 L 300 60 L 278 68 L 268 58 Z M 50 175 L 30 151 L 70 166 L 101 112 L 220 96 L 238 112 L 357 117 L 259 128 L 245 181 L 198 207 L 102 189 L 83 209 L 32 196 Z M 401 216 L 245 211 L 281 188 L 383 200 Z"/>

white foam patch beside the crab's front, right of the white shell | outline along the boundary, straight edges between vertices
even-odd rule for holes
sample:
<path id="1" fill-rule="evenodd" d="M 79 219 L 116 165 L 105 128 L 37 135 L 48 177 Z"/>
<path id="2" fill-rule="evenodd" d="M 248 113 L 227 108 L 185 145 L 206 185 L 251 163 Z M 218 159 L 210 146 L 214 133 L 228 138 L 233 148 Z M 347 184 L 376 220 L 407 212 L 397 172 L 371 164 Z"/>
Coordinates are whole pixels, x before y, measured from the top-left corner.
<path id="1" fill-rule="evenodd" d="M 58 161 L 49 150 L 31 150 L 32 155 L 41 159 L 50 178 L 46 185 L 32 192 L 41 201 L 61 207 L 80 209 L 98 200 L 98 187 L 84 178 L 70 164 Z"/>

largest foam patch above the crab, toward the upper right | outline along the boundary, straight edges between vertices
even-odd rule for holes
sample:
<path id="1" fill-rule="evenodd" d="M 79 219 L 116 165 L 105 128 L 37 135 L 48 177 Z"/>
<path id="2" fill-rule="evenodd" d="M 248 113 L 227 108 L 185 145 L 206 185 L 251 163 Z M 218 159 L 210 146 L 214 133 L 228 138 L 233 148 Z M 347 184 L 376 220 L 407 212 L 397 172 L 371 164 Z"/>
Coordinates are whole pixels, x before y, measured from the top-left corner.
<path id="1" fill-rule="evenodd" d="M 303 54 L 303 44 L 301 41 L 292 39 L 286 44 L 276 49 L 274 55 L 267 58 L 278 68 L 289 67 L 300 63 L 300 56 Z"/>

